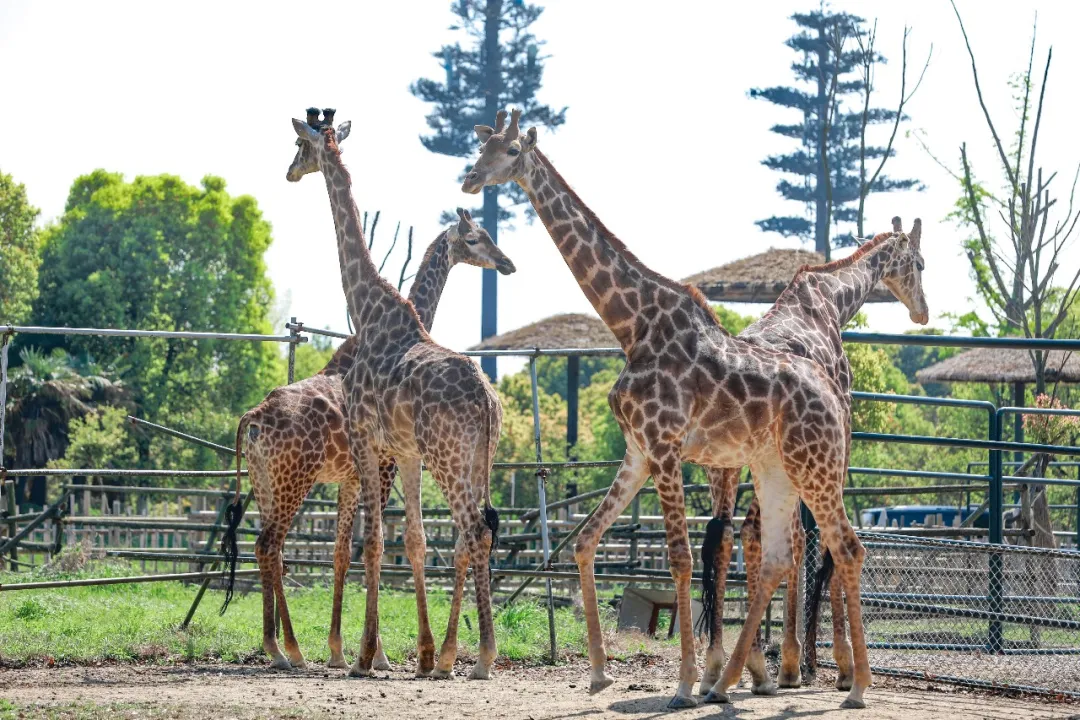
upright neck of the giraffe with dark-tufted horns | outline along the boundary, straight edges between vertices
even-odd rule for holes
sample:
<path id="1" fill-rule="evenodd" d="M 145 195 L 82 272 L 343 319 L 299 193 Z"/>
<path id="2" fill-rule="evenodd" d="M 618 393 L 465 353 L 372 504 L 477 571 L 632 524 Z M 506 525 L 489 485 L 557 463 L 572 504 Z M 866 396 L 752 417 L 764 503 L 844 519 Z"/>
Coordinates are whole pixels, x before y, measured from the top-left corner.
<path id="1" fill-rule="evenodd" d="M 327 142 L 329 140 L 327 139 Z M 352 178 L 341 162 L 336 146 L 321 147 L 319 168 L 326 179 L 326 192 L 334 214 L 337 232 L 338 263 L 341 267 L 341 287 L 349 304 L 356 335 L 369 324 L 401 324 L 406 329 L 424 332 L 416 311 L 394 287 L 379 274 L 372 254 L 364 241 L 360 213 L 352 195 Z M 410 327 L 411 326 L 411 327 Z"/>

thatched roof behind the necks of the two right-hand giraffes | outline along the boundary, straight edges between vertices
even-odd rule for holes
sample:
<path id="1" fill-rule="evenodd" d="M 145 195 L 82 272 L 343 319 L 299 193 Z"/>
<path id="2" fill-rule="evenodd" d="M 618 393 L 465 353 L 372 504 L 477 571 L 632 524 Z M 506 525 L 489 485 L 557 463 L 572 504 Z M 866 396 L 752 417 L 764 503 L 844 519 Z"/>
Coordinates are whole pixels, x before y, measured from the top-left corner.
<path id="1" fill-rule="evenodd" d="M 769 248 L 712 270 L 690 275 L 683 282 L 693 285 L 713 302 L 775 302 L 805 264 L 821 264 L 825 258 L 810 250 Z M 867 302 L 895 302 L 878 284 Z"/>

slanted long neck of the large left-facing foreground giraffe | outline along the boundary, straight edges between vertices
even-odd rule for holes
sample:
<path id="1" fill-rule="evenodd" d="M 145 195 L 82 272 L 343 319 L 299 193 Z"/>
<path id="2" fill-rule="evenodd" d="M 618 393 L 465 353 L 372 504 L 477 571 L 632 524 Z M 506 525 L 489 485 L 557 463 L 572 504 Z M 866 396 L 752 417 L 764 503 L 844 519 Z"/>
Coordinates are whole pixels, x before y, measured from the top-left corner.
<path id="1" fill-rule="evenodd" d="M 638 320 L 654 317 L 661 309 L 670 310 L 676 296 L 692 299 L 690 304 L 697 308 L 692 312 L 701 318 L 707 315 L 716 324 L 712 311 L 692 297 L 689 288 L 653 272 L 634 257 L 539 150 L 526 155 L 525 169 L 515 179 L 589 302 L 624 351 L 629 352 L 648 331 L 648 323 Z"/>

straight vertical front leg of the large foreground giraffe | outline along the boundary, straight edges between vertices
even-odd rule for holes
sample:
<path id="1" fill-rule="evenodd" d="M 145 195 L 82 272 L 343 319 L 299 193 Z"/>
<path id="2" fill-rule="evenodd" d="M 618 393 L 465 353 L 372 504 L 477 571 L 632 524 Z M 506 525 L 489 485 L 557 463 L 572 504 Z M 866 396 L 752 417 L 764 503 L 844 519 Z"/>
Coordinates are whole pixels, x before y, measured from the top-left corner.
<path id="1" fill-rule="evenodd" d="M 679 663 L 678 688 L 667 703 L 671 709 L 697 707 L 693 683 L 698 680 L 698 662 L 693 648 L 693 611 L 690 607 L 690 579 L 693 574 L 693 554 L 690 552 L 690 533 L 686 525 L 686 497 L 683 493 L 681 459 L 674 445 L 649 448 L 652 484 L 660 495 L 667 535 L 667 563 L 675 581 L 676 616 L 678 620 Z"/>

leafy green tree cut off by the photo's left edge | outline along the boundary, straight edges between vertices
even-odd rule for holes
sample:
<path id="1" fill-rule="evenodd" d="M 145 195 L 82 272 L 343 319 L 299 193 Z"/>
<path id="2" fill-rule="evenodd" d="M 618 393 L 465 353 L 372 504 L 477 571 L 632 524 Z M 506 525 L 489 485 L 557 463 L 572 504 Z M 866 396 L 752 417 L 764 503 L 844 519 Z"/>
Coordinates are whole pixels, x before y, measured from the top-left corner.
<path id="1" fill-rule="evenodd" d="M 0 323 L 16 325 L 30 315 L 38 297 L 38 208 L 26 187 L 0 173 Z"/>

